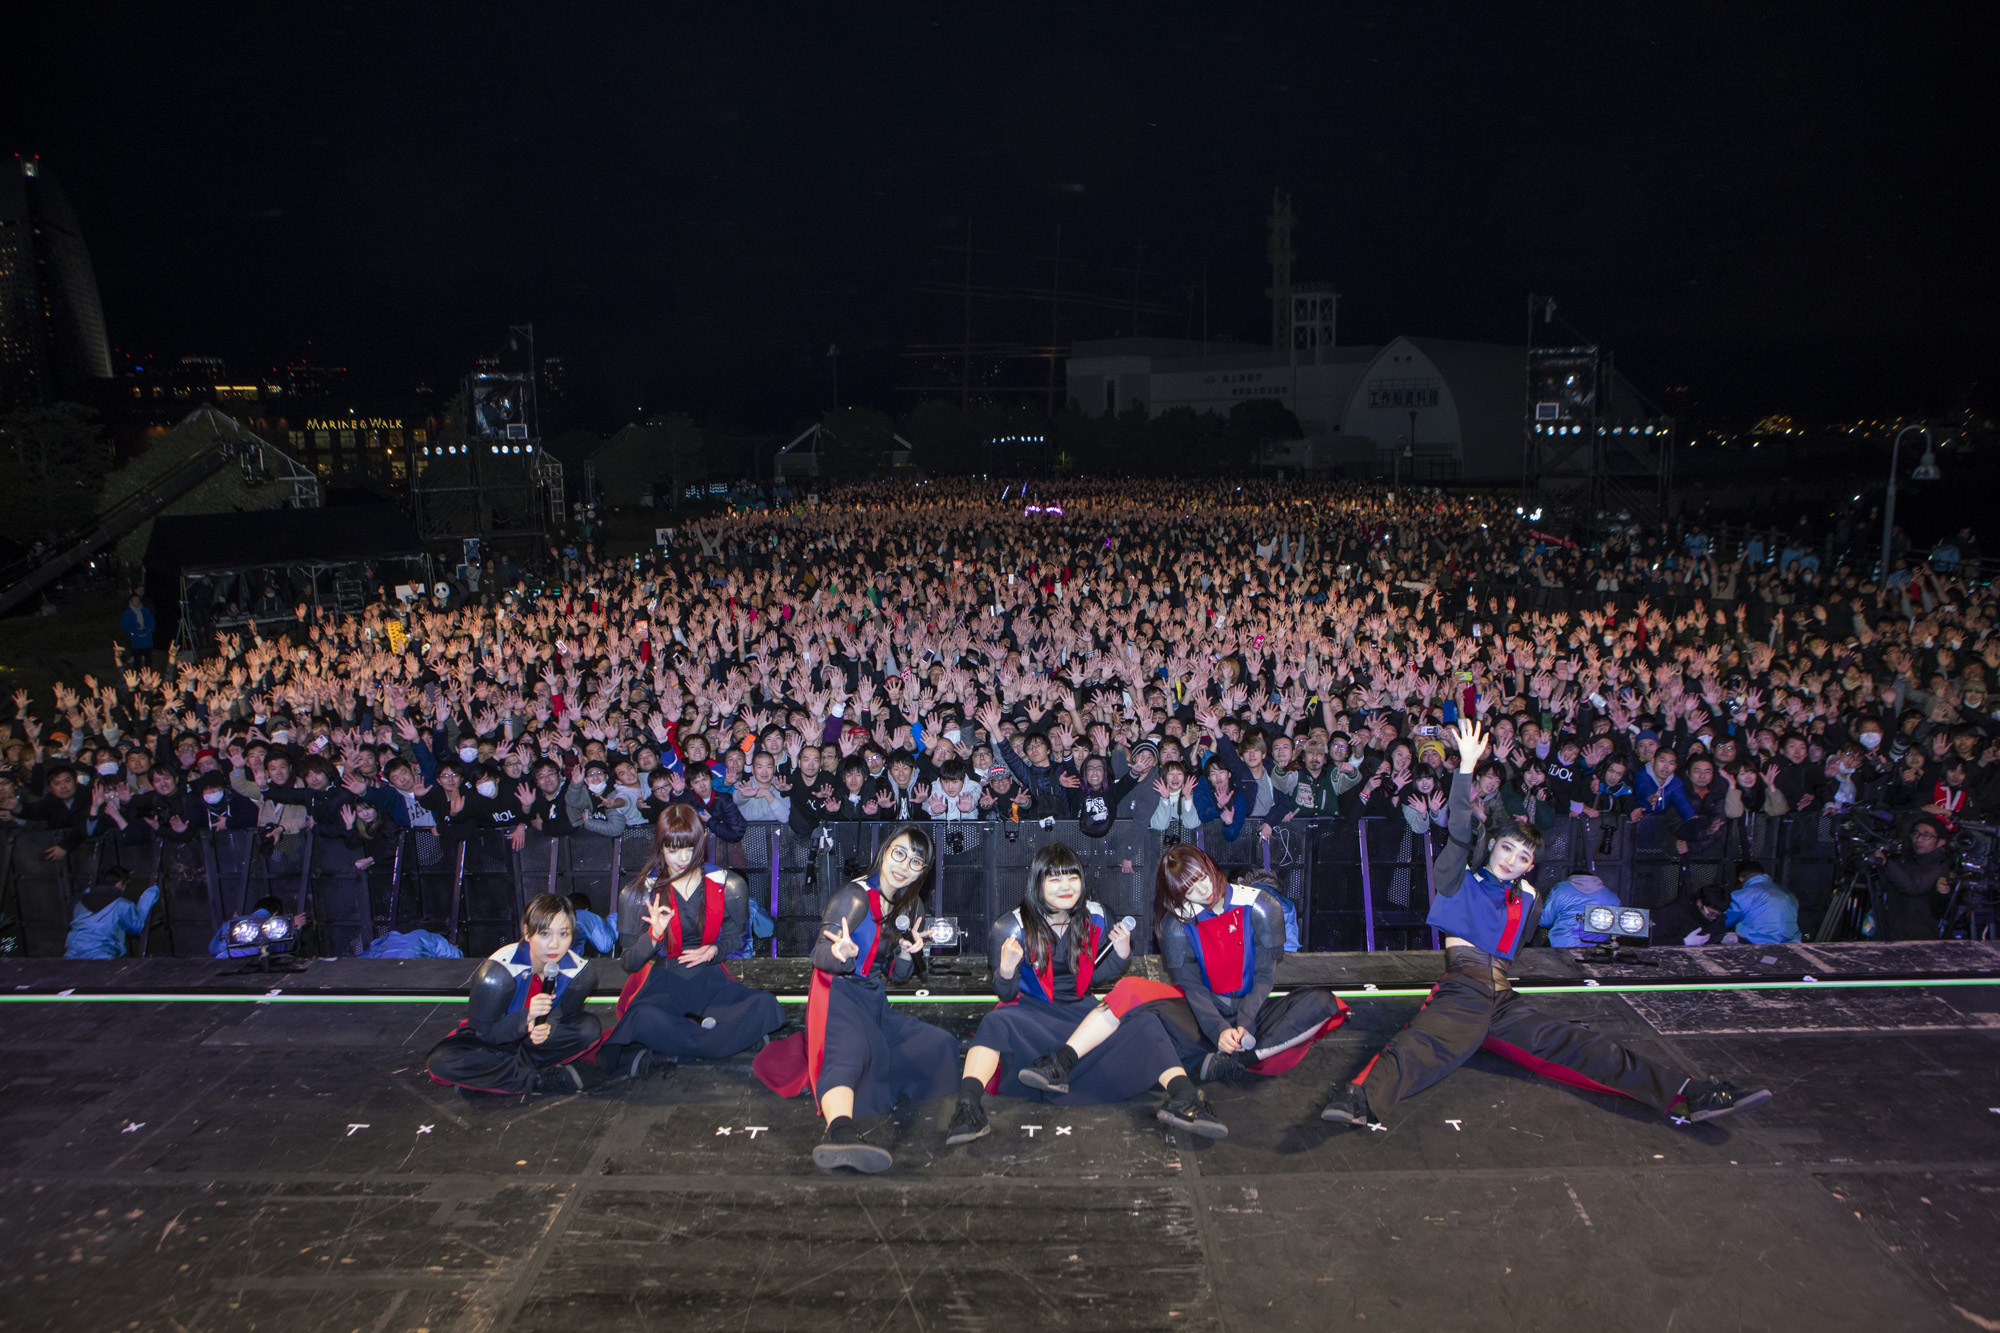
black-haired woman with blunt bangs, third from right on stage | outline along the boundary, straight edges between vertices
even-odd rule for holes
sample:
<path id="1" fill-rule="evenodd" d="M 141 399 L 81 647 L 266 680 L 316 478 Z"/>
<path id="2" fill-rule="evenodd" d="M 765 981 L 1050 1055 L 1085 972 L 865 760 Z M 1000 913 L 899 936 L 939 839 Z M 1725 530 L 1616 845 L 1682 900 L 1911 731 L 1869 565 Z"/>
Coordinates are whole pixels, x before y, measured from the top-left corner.
<path id="1" fill-rule="evenodd" d="M 946 1129 L 946 1143 L 972 1143 L 986 1135 L 990 1127 L 984 1097 L 990 1091 L 1094 1107 L 1136 1097 L 1156 1083 L 1168 1089 L 1170 1103 L 1188 1103 L 1182 1107 L 1184 1115 L 1174 1119 L 1176 1125 L 1186 1121 L 1184 1127 L 1196 1133 L 1224 1133 L 1198 1105 L 1174 1043 L 1150 1013 L 1120 1025 L 1110 1041 L 1080 1059 L 1064 1093 L 1026 1087 L 1016 1077 L 1022 1067 L 1062 1045 L 1096 1009 L 1090 989 L 1114 981 L 1132 961 L 1130 927 L 1118 923 L 1106 931 L 1104 909 L 1084 901 L 1084 867 L 1074 851 L 1050 843 L 1034 853 L 1020 907 L 994 923 L 986 957 L 1000 1005 L 980 1019 L 980 1031 L 966 1051 L 958 1111 Z M 1176 1079 L 1182 1085 L 1178 1099 Z"/>

